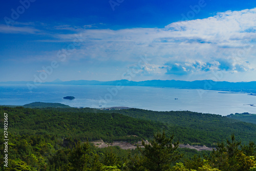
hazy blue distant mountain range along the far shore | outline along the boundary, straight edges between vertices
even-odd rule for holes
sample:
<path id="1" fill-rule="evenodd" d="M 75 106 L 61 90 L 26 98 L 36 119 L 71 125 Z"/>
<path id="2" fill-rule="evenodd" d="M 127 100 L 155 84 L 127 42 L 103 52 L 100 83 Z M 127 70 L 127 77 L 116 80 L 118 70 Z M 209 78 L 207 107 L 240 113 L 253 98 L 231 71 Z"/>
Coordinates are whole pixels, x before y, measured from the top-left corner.
<path id="1" fill-rule="evenodd" d="M 0 84 L 34 84 L 33 81 L 8 81 Z M 179 80 L 146 80 L 146 81 L 96 81 L 96 80 L 73 80 L 61 81 L 59 79 L 52 82 L 43 82 L 41 84 L 57 85 L 91 85 L 91 86 L 144 86 L 144 87 L 166 87 L 180 89 L 203 89 L 229 92 L 256 93 L 256 81 L 251 82 L 227 82 L 212 80 L 179 81 Z M 252 95 L 253 95 L 252 94 Z"/>

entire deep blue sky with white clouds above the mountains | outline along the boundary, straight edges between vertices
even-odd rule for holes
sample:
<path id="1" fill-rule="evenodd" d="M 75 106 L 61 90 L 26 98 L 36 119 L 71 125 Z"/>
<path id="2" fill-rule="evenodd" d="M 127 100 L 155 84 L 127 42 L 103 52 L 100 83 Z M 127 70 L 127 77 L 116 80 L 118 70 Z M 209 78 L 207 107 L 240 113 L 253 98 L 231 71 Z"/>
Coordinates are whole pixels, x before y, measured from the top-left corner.
<path id="1" fill-rule="evenodd" d="M 255 81 L 255 1 L 5 1 L 0 81 Z"/>

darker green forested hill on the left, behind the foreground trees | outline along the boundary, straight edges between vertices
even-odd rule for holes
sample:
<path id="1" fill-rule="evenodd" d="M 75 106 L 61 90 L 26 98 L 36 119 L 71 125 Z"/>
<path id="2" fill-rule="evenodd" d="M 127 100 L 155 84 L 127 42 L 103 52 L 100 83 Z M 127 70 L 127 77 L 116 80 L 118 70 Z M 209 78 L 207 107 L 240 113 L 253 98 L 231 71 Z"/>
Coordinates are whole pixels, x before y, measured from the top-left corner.
<path id="1" fill-rule="evenodd" d="M 60 112 L 54 109 L 0 107 L 1 113 L 8 114 L 10 133 L 18 135 L 54 134 L 57 137 L 78 138 L 83 141 L 102 139 L 110 142 L 150 138 L 152 133 L 167 129 L 161 122 L 132 118 L 117 113 Z M 0 122 L 0 126 L 4 127 L 4 123 Z"/>

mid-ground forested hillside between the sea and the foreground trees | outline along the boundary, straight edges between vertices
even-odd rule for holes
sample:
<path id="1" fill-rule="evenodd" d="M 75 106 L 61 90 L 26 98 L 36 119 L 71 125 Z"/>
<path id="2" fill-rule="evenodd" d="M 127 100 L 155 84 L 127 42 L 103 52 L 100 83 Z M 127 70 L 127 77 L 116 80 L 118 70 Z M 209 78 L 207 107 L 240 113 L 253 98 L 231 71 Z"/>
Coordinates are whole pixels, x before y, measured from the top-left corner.
<path id="1" fill-rule="evenodd" d="M 32 104 L 33 108 L 40 108 L 41 104 L 48 108 L 37 110 L 5 108 L 16 111 L 15 118 L 24 116 L 23 119 L 14 119 L 15 129 L 19 133 L 24 132 L 24 130 L 28 133 L 30 132 L 28 130 L 38 133 L 38 129 L 40 129 L 40 134 L 48 134 L 49 130 L 52 130 L 53 132 L 56 131 L 55 134 L 57 135 L 71 136 L 71 130 L 74 130 L 73 133 L 76 134 L 76 138 L 89 138 L 90 140 L 101 138 L 111 141 L 125 140 L 126 138 L 124 137 L 129 135 L 137 135 L 137 139 L 140 140 L 140 138 L 152 136 L 148 131 L 150 129 L 152 129 L 152 133 L 165 129 L 168 134 L 175 135 L 175 140 L 190 145 L 215 146 L 217 142 L 229 138 L 231 134 L 234 134 L 242 143 L 256 141 L 255 124 L 245 123 L 221 115 L 189 111 L 156 112 L 140 109 L 102 111 L 91 108 L 61 108 L 57 105 L 58 103 L 49 103 L 54 106 L 54 108 L 49 108 L 50 105 L 48 103 Z M 63 107 L 66 107 L 66 105 Z M 12 110 L 11 112 L 13 112 Z M 25 114 L 33 115 L 28 116 Z M 117 120 L 110 120 L 113 118 Z M 115 125 L 113 125 L 112 121 L 114 121 Z M 22 126 L 25 126 L 26 129 Z M 135 131 L 136 129 L 138 130 Z M 84 132 L 85 130 L 87 131 Z"/>

